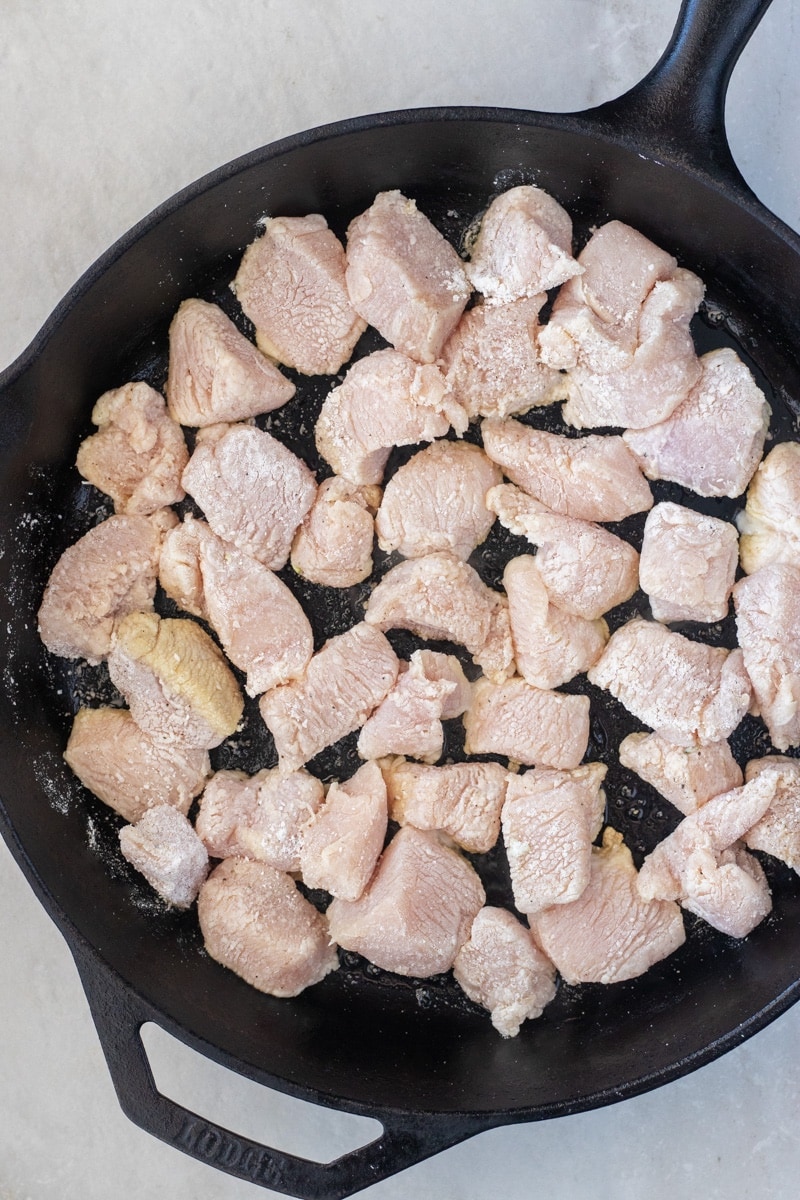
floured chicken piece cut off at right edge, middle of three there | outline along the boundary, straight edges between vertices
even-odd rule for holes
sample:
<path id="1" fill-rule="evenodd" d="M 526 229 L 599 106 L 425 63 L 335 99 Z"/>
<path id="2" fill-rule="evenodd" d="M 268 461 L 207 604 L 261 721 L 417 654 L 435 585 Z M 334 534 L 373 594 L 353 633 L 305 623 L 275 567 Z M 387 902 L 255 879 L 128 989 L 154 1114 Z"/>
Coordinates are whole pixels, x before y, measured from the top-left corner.
<path id="1" fill-rule="evenodd" d="M 800 745 L 800 566 L 763 566 L 734 586 L 736 634 L 776 750 Z"/>

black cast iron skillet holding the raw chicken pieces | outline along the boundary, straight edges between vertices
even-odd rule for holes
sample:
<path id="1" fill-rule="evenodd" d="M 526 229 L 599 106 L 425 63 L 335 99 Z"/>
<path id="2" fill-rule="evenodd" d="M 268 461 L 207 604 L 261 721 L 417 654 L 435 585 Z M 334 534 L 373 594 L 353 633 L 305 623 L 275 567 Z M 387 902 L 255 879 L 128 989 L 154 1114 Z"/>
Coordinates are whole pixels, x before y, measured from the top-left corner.
<path id="1" fill-rule="evenodd" d="M 58 556 L 108 511 L 79 486 L 72 466 L 95 398 L 132 377 L 163 383 L 166 330 L 185 296 L 219 299 L 241 320 L 228 283 L 265 212 L 321 211 L 343 234 L 378 191 L 399 187 L 458 241 L 494 193 L 535 181 L 572 212 L 579 244 L 593 223 L 614 216 L 696 270 L 709 288 L 697 322 L 700 348 L 735 344 L 768 390 L 772 434 L 796 437 L 800 240 L 748 191 L 723 128 L 730 71 L 766 6 L 686 0 L 650 76 L 590 113 L 390 113 L 247 155 L 122 238 L 0 378 L 0 624 L 7 631 L 0 829 L 76 958 L 122 1108 L 201 1160 L 293 1195 L 344 1196 L 480 1130 L 576 1112 L 675 1079 L 800 995 L 800 886 L 770 860 L 775 910 L 750 938 L 734 942 L 694 923 L 687 944 L 642 979 L 563 986 L 546 1014 L 510 1042 L 447 978 L 396 980 L 353 955 L 297 1000 L 263 996 L 201 953 L 192 916 L 149 899 L 115 850 L 119 821 L 64 767 L 76 704 L 102 701 L 108 685 L 102 671 L 48 656 L 35 619 Z M 324 390 L 318 380 L 305 384 L 289 407 L 295 416 L 276 418 L 314 467 L 296 412 L 313 415 Z M 662 485 L 656 493 L 681 496 Z M 706 508 L 730 517 L 735 505 Z M 636 541 L 640 526 L 626 532 Z M 501 539 L 487 547 L 480 565 L 489 581 L 507 550 Z M 321 641 L 356 619 L 362 596 L 347 593 L 335 605 L 302 599 Z M 696 628 L 693 636 L 724 642 L 730 622 Z M 588 690 L 595 714 L 589 755 L 613 762 L 619 737 L 634 722 L 608 707 L 600 714 Z M 734 749 L 742 761 L 768 752 L 760 724 L 746 719 Z M 248 725 L 216 764 L 255 769 L 270 752 Z M 324 776 L 348 774 L 351 744 L 312 766 Z M 675 816 L 621 768 L 609 770 L 608 785 L 609 822 L 640 860 Z M 501 863 L 489 858 L 481 868 L 489 900 L 505 902 Z M 384 1133 L 329 1164 L 234 1136 L 156 1091 L 139 1038 L 150 1020 L 270 1087 L 377 1117 Z"/>

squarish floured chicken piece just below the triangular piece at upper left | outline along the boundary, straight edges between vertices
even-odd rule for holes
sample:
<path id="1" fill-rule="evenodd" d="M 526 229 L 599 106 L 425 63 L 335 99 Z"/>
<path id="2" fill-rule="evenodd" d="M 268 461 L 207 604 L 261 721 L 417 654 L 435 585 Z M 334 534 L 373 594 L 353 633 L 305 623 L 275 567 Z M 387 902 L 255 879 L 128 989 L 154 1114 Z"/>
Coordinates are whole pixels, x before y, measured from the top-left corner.
<path id="1" fill-rule="evenodd" d="M 184 487 L 219 538 L 272 571 L 285 565 L 317 496 L 305 462 L 252 425 L 205 431 L 184 472 Z"/>

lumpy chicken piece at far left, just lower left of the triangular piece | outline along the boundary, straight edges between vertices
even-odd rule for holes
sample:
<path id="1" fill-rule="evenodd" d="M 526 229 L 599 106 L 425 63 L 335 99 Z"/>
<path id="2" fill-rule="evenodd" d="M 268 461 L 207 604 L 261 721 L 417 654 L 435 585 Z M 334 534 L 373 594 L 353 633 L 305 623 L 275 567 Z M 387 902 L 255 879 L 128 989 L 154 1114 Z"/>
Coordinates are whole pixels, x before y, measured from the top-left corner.
<path id="1" fill-rule="evenodd" d="M 148 516 L 184 499 L 188 450 L 163 396 L 146 383 L 126 383 L 100 397 L 91 419 L 98 432 L 80 443 L 76 464 L 116 512 Z"/>

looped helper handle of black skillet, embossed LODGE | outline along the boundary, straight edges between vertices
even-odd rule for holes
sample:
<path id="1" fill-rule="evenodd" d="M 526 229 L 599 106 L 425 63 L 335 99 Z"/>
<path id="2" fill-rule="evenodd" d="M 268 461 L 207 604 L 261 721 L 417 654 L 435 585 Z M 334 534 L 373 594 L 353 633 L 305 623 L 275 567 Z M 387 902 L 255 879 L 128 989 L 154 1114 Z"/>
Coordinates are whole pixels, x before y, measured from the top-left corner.
<path id="1" fill-rule="evenodd" d="M 184 1108 L 156 1087 L 140 1037 L 150 1006 L 97 959 L 71 942 L 112 1081 L 125 1115 L 146 1133 L 228 1175 L 301 1200 L 342 1200 L 408 1166 L 491 1129 L 498 1122 L 467 1114 L 363 1112 L 383 1134 L 330 1163 L 317 1163 L 230 1133 Z"/>

